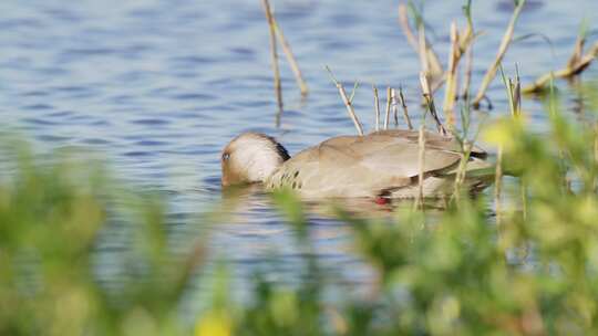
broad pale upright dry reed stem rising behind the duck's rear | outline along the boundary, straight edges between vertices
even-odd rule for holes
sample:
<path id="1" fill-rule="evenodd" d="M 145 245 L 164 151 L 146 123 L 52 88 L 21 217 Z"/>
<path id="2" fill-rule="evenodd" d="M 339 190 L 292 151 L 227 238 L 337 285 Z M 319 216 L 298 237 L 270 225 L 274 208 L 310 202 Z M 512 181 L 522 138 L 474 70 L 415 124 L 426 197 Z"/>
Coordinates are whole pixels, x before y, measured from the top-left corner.
<path id="1" fill-rule="evenodd" d="M 455 126 L 455 98 L 457 95 L 457 64 L 461 59 L 461 49 L 458 44 L 458 32 L 456 23 L 451 23 L 451 51 L 448 53 L 448 67 L 446 69 L 446 87 L 444 91 L 444 104 L 442 111 L 446 116 L 448 128 Z"/>

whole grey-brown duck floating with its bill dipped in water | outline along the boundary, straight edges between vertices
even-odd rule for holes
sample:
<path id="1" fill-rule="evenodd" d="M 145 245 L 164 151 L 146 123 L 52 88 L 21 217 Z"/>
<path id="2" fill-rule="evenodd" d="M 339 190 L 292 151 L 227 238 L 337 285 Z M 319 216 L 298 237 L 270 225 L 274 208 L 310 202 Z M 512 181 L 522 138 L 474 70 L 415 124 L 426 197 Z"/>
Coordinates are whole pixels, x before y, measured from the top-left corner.
<path id="1" fill-rule="evenodd" d="M 319 198 L 404 199 L 420 196 L 419 132 L 378 130 L 363 136 L 337 136 L 290 156 L 274 137 L 244 133 L 221 151 L 221 185 L 262 183 L 267 190 L 289 188 Z M 454 191 L 463 151 L 451 136 L 424 132 L 424 198 L 444 198 Z M 484 189 L 489 170 L 485 150 L 473 146 L 465 162 L 470 191 Z"/>

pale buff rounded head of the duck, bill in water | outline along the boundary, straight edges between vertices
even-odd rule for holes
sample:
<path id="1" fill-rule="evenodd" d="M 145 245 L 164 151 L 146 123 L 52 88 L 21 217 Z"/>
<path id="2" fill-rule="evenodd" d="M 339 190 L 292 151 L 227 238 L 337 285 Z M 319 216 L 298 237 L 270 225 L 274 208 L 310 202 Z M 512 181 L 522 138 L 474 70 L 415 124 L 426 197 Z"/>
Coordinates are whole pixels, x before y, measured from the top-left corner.
<path id="1" fill-rule="evenodd" d="M 290 158 L 272 137 L 244 133 L 223 149 L 223 186 L 262 182 Z"/>

